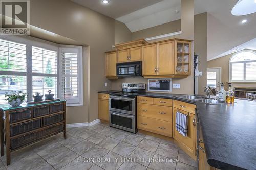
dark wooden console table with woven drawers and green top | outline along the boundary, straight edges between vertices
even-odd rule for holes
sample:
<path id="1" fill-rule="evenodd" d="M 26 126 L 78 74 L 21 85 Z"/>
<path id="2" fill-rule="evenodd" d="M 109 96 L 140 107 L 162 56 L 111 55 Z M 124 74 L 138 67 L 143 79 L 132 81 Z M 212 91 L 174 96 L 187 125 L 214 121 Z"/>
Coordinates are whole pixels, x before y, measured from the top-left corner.
<path id="1" fill-rule="evenodd" d="M 0 147 L 10 165 L 11 152 L 33 142 L 64 133 L 66 139 L 66 101 L 58 100 L 40 104 L 22 104 L 11 107 L 0 105 Z"/>

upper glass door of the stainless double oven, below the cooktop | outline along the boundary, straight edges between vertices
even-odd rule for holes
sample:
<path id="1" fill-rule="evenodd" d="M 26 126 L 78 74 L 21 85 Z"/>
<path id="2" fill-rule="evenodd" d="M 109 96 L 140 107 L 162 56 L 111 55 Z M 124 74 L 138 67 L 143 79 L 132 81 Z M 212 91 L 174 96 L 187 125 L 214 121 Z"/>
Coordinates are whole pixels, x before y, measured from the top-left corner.
<path id="1" fill-rule="evenodd" d="M 118 111 L 127 114 L 134 114 L 135 112 L 135 99 L 134 98 L 117 98 L 110 97 L 110 110 Z"/>

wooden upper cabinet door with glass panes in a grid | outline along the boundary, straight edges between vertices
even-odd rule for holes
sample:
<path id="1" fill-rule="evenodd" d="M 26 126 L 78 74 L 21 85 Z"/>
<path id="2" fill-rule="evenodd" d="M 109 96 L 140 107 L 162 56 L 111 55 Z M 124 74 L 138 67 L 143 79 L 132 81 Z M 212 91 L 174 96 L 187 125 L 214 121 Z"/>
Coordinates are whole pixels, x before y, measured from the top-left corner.
<path id="1" fill-rule="evenodd" d="M 191 42 L 175 41 L 175 74 L 191 74 Z"/>

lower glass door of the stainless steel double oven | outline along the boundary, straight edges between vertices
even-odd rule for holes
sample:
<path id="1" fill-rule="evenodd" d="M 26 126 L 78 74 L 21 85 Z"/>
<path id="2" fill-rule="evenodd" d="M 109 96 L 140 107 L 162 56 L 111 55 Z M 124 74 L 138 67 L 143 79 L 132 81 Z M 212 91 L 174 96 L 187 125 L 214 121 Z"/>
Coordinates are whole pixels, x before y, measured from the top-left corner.
<path id="1" fill-rule="evenodd" d="M 135 116 L 110 112 L 110 125 L 126 131 L 135 132 Z"/>

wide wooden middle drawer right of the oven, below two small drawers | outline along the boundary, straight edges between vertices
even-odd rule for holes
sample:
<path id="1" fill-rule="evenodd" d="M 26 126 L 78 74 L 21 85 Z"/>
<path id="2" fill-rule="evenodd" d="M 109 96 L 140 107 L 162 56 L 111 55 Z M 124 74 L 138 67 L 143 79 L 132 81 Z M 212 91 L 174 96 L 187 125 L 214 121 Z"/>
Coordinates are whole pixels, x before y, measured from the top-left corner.
<path id="1" fill-rule="evenodd" d="M 137 115 L 172 122 L 173 107 L 138 103 Z"/>

